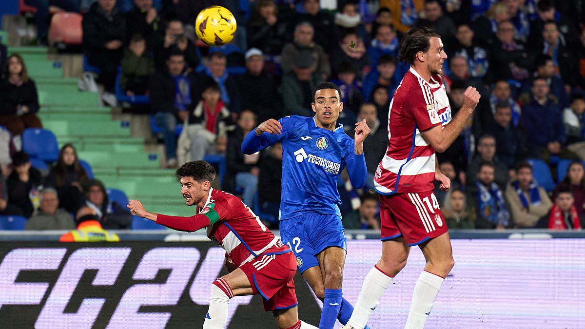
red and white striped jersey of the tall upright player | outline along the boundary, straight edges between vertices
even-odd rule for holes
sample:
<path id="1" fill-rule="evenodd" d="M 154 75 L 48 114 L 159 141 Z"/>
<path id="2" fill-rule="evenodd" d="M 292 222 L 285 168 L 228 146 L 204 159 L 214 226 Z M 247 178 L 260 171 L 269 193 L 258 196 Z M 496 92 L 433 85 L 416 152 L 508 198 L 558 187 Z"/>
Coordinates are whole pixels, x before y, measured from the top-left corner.
<path id="1" fill-rule="evenodd" d="M 421 131 L 451 121 L 451 108 L 443 80 L 425 81 L 412 67 L 402 78 L 390 102 L 388 148 L 376 175 L 380 194 L 433 190 L 435 149 Z"/>

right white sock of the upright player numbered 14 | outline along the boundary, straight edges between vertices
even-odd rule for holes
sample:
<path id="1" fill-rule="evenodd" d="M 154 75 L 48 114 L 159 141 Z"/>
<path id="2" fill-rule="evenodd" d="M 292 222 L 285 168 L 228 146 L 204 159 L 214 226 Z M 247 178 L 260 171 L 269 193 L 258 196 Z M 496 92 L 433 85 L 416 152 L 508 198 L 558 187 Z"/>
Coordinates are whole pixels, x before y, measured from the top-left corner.
<path id="1" fill-rule="evenodd" d="M 408 319 L 406 320 L 405 329 L 422 329 L 425 326 L 426 318 L 431 313 L 435 298 L 443 284 L 441 276 L 431 272 L 422 271 L 418 277 L 417 284 L 414 286 L 412 293 L 412 304 Z"/>

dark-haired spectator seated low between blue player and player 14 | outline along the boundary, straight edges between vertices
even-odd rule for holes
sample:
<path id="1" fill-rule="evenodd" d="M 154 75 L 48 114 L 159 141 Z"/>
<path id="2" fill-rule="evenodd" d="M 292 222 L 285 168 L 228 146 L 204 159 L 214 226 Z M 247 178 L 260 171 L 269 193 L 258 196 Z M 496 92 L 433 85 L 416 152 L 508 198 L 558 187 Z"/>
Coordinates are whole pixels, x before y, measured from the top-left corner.
<path id="1" fill-rule="evenodd" d="M 342 217 L 345 229 L 380 229 L 378 194 L 365 193 L 362 196 L 360 207 Z"/>

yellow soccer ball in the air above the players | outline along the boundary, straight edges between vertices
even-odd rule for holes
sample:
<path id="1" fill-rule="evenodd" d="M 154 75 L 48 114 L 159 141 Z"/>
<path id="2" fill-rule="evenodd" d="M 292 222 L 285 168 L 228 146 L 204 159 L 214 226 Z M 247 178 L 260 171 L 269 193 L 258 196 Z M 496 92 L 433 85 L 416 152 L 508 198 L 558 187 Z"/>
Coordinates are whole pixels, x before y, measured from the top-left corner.
<path id="1" fill-rule="evenodd" d="M 195 32 L 208 46 L 221 46 L 232 41 L 236 27 L 236 18 L 222 6 L 207 7 L 195 19 Z"/>

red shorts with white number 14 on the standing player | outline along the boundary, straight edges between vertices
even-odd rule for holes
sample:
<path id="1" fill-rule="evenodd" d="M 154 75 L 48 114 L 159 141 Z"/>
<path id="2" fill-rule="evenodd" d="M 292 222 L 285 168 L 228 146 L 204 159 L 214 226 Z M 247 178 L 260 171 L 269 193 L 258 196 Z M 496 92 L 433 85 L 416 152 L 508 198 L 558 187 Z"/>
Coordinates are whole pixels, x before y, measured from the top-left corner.
<path id="1" fill-rule="evenodd" d="M 433 191 L 380 194 L 381 240 L 402 235 L 409 246 L 447 232 L 445 217 Z"/>

